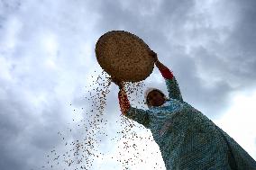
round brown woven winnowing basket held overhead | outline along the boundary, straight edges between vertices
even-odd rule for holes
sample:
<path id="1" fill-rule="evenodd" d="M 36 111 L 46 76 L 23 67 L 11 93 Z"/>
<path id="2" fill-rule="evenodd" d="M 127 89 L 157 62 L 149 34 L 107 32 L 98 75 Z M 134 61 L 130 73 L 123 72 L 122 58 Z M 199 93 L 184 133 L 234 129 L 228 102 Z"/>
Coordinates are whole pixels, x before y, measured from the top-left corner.
<path id="1" fill-rule="evenodd" d="M 151 75 L 151 49 L 128 31 L 108 31 L 96 42 L 96 59 L 107 74 L 124 82 L 139 82 Z"/>

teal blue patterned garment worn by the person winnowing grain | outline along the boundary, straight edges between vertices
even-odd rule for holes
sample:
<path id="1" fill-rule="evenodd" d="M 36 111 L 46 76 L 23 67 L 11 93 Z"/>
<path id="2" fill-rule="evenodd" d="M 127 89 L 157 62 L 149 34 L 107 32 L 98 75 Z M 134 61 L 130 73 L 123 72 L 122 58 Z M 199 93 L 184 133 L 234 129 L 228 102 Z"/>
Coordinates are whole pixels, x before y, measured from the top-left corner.
<path id="1" fill-rule="evenodd" d="M 125 114 L 150 129 L 167 170 L 256 170 L 255 160 L 202 112 L 183 101 L 178 83 L 165 79 L 169 100 Z"/>

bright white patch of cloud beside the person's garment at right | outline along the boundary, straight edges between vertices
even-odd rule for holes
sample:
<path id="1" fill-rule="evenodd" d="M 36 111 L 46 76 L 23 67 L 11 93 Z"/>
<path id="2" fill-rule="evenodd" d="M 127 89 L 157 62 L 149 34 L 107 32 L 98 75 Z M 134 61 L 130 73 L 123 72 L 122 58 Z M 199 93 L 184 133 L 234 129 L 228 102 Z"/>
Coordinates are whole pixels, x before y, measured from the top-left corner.
<path id="1" fill-rule="evenodd" d="M 215 123 L 256 159 L 256 90 L 230 95 L 229 108 Z"/>

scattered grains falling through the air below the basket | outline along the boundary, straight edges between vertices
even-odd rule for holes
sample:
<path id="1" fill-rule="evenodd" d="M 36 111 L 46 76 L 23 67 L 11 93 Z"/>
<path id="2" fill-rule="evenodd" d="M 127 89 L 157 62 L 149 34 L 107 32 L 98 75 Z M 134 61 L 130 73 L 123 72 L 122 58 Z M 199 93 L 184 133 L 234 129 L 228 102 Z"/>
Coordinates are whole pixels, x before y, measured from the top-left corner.
<path id="1" fill-rule="evenodd" d="M 94 77 L 92 76 L 92 78 Z M 145 162 L 145 158 L 147 157 L 144 157 L 144 155 L 149 155 L 148 153 L 151 146 L 144 144 L 138 147 L 138 142 L 144 139 L 149 141 L 148 143 L 150 145 L 150 141 L 153 141 L 153 139 L 150 135 L 138 135 L 135 128 L 143 127 L 137 126 L 137 123 L 134 124 L 134 121 L 127 119 L 122 115 L 120 110 L 119 114 L 116 112 L 116 117 L 119 116 L 119 120 L 117 119 L 117 121 L 114 122 L 114 126 L 116 126 L 116 129 L 119 129 L 120 131 L 114 131 L 115 129 L 111 129 L 111 135 L 107 134 L 107 132 L 109 132 L 107 128 L 111 127 L 111 124 L 113 123 L 108 122 L 110 121 L 108 116 L 110 113 L 105 112 L 106 98 L 107 94 L 110 92 L 111 84 L 112 82 L 109 76 L 105 71 L 103 71 L 101 75 L 96 77 L 96 81 L 93 81 L 92 85 L 89 85 L 90 89 L 91 87 L 96 87 L 93 88 L 93 90 L 87 90 L 87 94 L 89 94 L 89 96 L 85 98 L 87 100 L 85 103 L 91 103 L 91 105 L 88 108 L 82 108 L 83 119 L 78 122 L 77 126 L 68 128 L 67 131 L 69 132 L 69 135 L 71 135 L 71 138 L 66 138 L 64 135 L 65 132 L 58 132 L 60 139 L 63 141 L 63 145 L 52 148 L 50 153 L 46 156 L 46 165 L 41 166 L 41 168 L 65 170 L 97 169 L 97 164 L 105 161 L 106 158 L 109 159 L 109 155 L 111 155 L 111 159 L 117 161 L 118 164 L 121 163 L 123 169 L 131 169 L 131 167 Z M 130 103 L 134 105 L 135 103 L 133 103 L 133 101 L 138 99 L 139 96 L 142 96 L 142 87 L 144 84 L 142 82 L 126 82 L 124 83 L 124 86 Z M 118 101 L 117 93 L 116 100 Z M 144 102 L 136 103 L 144 105 Z M 113 114 L 111 114 L 111 116 L 113 116 Z M 82 132 L 78 133 L 78 130 Z M 113 135 L 114 138 L 111 138 Z M 113 145 L 111 146 L 112 149 L 101 152 L 103 148 L 105 148 L 102 145 L 109 139 L 111 145 Z M 103 142 L 103 140 L 105 142 Z M 116 145 L 119 155 L 109 154 L 110 152 L 113 152 L 113 148 L 116 147 Z M 157 154 L 155 152 L 150 153 Z M 161 169 L 157 162 L 153 168 Z M 99 169 L 107 168 L 100 167 Z"/>

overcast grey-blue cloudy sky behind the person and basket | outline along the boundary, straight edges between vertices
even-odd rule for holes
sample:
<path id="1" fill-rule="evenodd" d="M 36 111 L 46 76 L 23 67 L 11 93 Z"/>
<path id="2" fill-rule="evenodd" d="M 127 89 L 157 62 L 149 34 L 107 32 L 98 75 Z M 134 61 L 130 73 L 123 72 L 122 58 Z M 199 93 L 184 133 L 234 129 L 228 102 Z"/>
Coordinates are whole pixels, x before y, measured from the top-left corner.
<path id="1" fill-rule="evenodd" d="M 96 40 L 113 30 L 142 38 L 173 71 L 183 99 L 256 159 L 255 0 L 1 0 L 0 169 L 40 169 L 53 147 L 67 149 L 57 133 L 76 129 L 72 120 L 85 117 L 81 108 L 90 109 L 86 86 L 102 71 Z M 167 92 L 157 68 L 145 85 Z M 111 85 L 110 122 L 120 114 L 117 92 Z M 115 129 L 118 123 L 108 125 L 113 136 Z M 109 156 L 116 154 L 105 141 Z M 144 159 L 131 169 L 153 169 L 151 160 L 164 167 L 160 154 Z M 95 168 L 120 168 L 106 160 Z"/>

